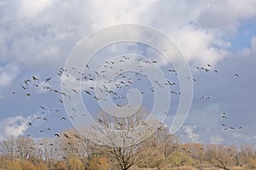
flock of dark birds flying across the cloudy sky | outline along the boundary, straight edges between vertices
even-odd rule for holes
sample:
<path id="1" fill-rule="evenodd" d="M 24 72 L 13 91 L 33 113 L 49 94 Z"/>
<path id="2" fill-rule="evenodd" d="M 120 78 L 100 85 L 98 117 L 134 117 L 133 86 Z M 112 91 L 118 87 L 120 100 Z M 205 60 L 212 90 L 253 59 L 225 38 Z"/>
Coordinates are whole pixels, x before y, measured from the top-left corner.
<path id="1" fill-rule="evenodd" d="M 122 59 L 118 59 L 118 60 L 112 60 L 112 61 L 105 61 L 104 65 L 102 67 L 101 71 L 95 71 L 93 69 L 93 66 L 90 65 L 84 65 L 85 69 L 84 72 L 80 72 L 78 71 L 75 67 L 71 67 L 72 71 L 75 72 L 75 74 L 70 75 L 68 74 L 69 71 L 67 71 L 67 69 L 64 68 L 60 68 L 59 71 L 56 72 L 58 77 L 61 77 L 62 80 L 64 79 L 70 79 L 72 81 L 78 81 L 78 82 L 90 82 L 89 86 L 86 87 L 82 87 L 83 89 L 81 89 L 81 92 L 85 95 L 85 98 L 88 99 L 94 99 L 96 101 L 98 100 L 107 100 L 108 98 L 105 98 L 104 96 L 108 96 L 110 94 L 110 96 L 112 97 L 113 100 L 115 100 L 115 104 L 118 107 L 122 107 L 125 104 L 125 91 L 128 92 L 128 89 L 131 88 L 132 86 L 135 86 L 138 82 L 143 82 L 144 79 L 147 78 L 147 75 L 143 74 L 143 67 L 150 67 L 150 66 L 154 66 L 155 64 L 157 64 L 157 61 L 155 60 L 146 60 L 143 58 L 137 58 L 134 59 L 134 62 L 137 62 L 137 68 L 138 68 L 138 72 L 123 72 L 122 69 L 119 69 L 118 71 L 115 70 L 116 65 L 124 65 L 126 61 L 128 61 L 130 58 L 123 56 Z M 140 70 L 141 69 L 141 70 Z M 206 67 L 196 67 L 196 69 L 198 71 L 204 71 L 206 73 L 215 73 L 215 74 L 219 74 L 219 72 L 217 70 L 212 70 L 212 65 L 207 65 Z M 108 73 L 109 72 L 113 72 L 115 74 L 115 79 L 114 80 L 108 80 L 106 77 L 108 77 Z M 171 94 L 174 95 L 180 95 L 181 92 L 178 92 L 178 87 L 177 87 L 177 83 L 176 82 L 172 82 L 170 80 L 168 80 L 168 77 L 175 77 L 177 76 L 177 71 L 174 69 L 167 69 L 166 70 L 166 82 L 160 82 L 159 80 L 154 80 L 153 85 L 151 85 L 148 89 L 145 88 L 145 86 L 143 87 L 143 91 L 141 91 L 141 94 L 144 94 L 149 92 L 149 93 L 153 93 L 154 95 L 154 91 L 155 88 L 171 88 Z M 170 75 L 171 74 L 171 75 Z M 74 77 L 74 75 L 77 75 L 77 77 Z M 102 84 L 100 84 L 99 87 L 95 87 L 94 86 L 94 82 L 96 82 L 96 78 L 99 77 L 101 78 Z M 233 75 L 233 77 L 239 77 L 239 75 L 237 73 L 235 73 Z M 27 78 L 24 80 L 24 82 L 22 83 L 22 85 L 20 86 L 20 88 L 25 92 L 25 95 L 28 98 L 32 98 L 33 94 L 32 91 L 30 89 L 32 89 L 32 87 L 34 88 L 40 88 L 41 90 L 45 91 L 45 92 L 49 92 L 52 94 L 57 94 L 58 98 L 57 98 L 57 102 L 60 102 L 61 105 L 63 105 L 63 100 L 62 98 L 68 98 L 68 99 L 72 99 L 72 95 L 71 93 L 74 94 L 79 94 L 79 88 L 74 88 L 71 87 L 70 91 L 68 92 L 63 92 L 61 90 L 58 90 L 56 88 L 52 88 L 50 86 L 50 82 L 52 81 L 53 77 L 45 77 L 45 78 L 41 78 L 41 77 L 36 77 L 36 76 L 32 76 L 31 78 Z M 176 77 L 177 79 L 177 77 Z M 191 81 L 195 82 L 196 79 L 193 77 L 188 77 L 188 79 L 191 79 Z M 68 86 L 68 84 L 66 84 L 66 82 L 61 82 L 62 86 Z M 110 86 L 109 86 L 110 85 Z M 108 88 L 111 87 L 111 88 Z M 176 88 L 175 88 L 176 87 Z M 102 93 L 101 96 L 97 96 L 95 93 L 96 88 L 98 88 L 98 90 Z M 17 91 L 12 92 L 11 94 L 15 95 L 15 94 L 19 94 Z M 22 94 L 24 94 L 22 92 Z M 211 96 L 201 96 L 200 97 L 201 100 L 210 100 Z M 41 113 L 41 116 L 38 116 L 37 119 L 41 120 L 41 121 L 45 121 L 47 122 L 49 120 L 50 117 L 46 116 L 48 113 L 61 113 L 63 108 L 59 108 L 59 109 L 53 109 L 53 108 L 47 108 L 47 105 L 39 105 L 38 106 L 38 110 Z M 164 113 L 166 114 L 166 112 Z M 168 113 L 167 113 L 168 114 Z M 50 116 L 50 114 L 48 114 Z M 72 116 L 63 116 L 62 114 L 58 114 L 59 115 L 59 120 L 61 122 L 67 122 L 68 118 L 70 119 L 75 119 L 78 116 L 85 116 L 82 113 L 76 113 L 76 108 L 73 107 L 73 115 Z M 221 116 L 222 121 L 224 121 L 225 119 L 227 119 L 228 117 L 226 116 L 225 113 L 223 113 Z M 102 122 L 101 119 L 97 119 L 97 122 Z M 27 126 L 28 127 L 32 127 L 34 122 L 28 122 Z M 228 126 L 225 123 L 222 123 L 222 128 L 224 131 L 227 130 L 236 130 L 236 129 L 242 129 L 243 127 L 233 127 L 233 126 Z M 47 127 L 45 129 L 41 129 L 39 131 L 39 133 L 44 133 L 44 132 L 51 132 L 52 128 L 51 127 Z M 67 133 L 53 133 L 55 137 L 61 137 L 61 135 L 63 135 L 65 138 L 67 139 L 71 139 L 70 136 L 68 136 Z M 30 136 L 30 134 L 28 134 L 28 136 Z M 78 134 L 75 134 L 75 138 L 80 138 Z"/>

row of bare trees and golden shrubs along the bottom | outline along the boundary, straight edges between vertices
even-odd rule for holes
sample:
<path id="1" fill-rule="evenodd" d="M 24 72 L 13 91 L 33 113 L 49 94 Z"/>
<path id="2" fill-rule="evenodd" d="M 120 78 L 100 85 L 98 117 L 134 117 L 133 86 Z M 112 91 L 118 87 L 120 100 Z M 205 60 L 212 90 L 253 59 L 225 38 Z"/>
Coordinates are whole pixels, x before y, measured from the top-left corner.
<path id="1" fill-rule="evenodd" d="M 142 110 L 125 117 L 102 115 L 97 121 L 101 126 L 91 127 L 94 131 L 86 128 L 91 139 L 96 138 L 94 142 L 85 139 L 75 129 L 55 133 L 54 139 L 36 140 L 20 136 L 3 140 L 0 142 L 0 170 L 136 170 L 157 167 L 166 170 L 232 170 L 256 167 L 256 152 L 252 145 L 182 144 L 161 123 L 153 119 L 146 122 Z M 137 131 L 136 127 L 142 128 Z M 105 139 L 101 139 L 102 136 Z"/>

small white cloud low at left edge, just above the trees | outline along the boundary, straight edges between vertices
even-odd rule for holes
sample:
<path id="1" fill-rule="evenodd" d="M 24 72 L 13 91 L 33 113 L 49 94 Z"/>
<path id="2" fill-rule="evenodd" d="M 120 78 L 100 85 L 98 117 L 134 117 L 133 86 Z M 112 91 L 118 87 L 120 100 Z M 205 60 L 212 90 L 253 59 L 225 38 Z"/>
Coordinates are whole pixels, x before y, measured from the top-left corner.
<path id="1" fill-rule="evenodd" d="M 6 139 L 8 136 L 19 136 L 25 133 L 28 128 L 28 122 L 36 116 L 11 116 L 0 120 L 0 139 Z"/>

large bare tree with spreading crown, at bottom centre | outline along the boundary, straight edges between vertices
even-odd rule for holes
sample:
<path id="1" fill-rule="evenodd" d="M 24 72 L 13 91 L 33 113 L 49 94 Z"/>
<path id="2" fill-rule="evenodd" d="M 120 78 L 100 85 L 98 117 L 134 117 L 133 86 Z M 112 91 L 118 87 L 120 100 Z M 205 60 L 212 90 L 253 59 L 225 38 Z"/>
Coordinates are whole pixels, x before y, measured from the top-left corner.
<path id="1" fill-rule="evenodd" d="M 143 122 L 145 116 L 140 110 L 132 116 L 102 116 L 98 118 L 98 122 L 102 125 L 96 128 L 96 135 L 105 137 L 103 144 L 107 146 L 102 147 L 105 153 L 110 157 L 111 162 L 119 167 L 119 169 L 127 170 L 132 165 L 141 161 L 140 153 L 143 150 L 143 142 L 141 139 L 146 139 L 154 130 L 149 126 L 149 123 Z M 138 126 L 144 128 L 139 131 L 136 130 Z M 145 130 L 146 129 L 146 130 Z M 148 130 L 149 129 L 149 130 Z M 92 133 L 92 135 L 94 135 Z M 105 142 L 105 143 L 104 143 Z"/>

